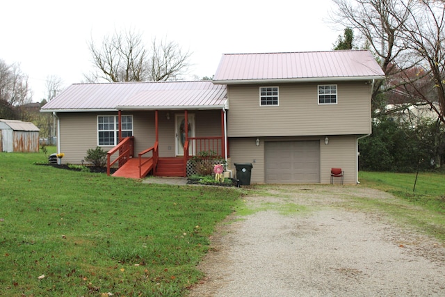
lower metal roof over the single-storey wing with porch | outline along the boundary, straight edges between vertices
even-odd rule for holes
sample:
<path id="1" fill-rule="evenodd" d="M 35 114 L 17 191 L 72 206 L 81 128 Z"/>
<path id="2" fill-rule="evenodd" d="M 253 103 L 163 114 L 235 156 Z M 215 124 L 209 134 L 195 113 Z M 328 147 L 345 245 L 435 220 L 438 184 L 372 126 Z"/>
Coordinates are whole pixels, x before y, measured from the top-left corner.
<path id="1" fill-rule="evenodd" d="M 226 86 L 211 81 L 76 83 L 41 111 L 116 111 L 118 109 L 221 109 Z"/>

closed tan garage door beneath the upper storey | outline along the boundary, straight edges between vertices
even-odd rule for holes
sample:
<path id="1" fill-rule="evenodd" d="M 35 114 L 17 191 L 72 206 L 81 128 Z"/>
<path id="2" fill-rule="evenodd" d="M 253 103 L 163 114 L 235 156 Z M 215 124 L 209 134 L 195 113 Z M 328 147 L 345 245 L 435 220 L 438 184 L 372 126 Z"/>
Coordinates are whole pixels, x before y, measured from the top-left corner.
<path id="1" fill-rule="evenodd" d="M 320 141 L 277 141 L 266 145 L 266 183 L 320 182 Z"/>

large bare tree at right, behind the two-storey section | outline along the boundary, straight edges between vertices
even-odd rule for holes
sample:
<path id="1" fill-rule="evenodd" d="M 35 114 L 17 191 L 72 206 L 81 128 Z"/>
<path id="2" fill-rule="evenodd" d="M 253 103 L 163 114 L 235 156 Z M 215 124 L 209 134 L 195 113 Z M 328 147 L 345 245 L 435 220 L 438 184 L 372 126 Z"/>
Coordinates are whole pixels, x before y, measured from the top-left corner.
<path id="1" fill-rule="evenodd" d="M 373 90 L 373 109 L 396 92 L 430 104 L 444 122 L 444 1 L 333 0 L 334 22 L 356 29 L 387 75 Z M 414 71 L 421 70 L 421 71 Z M 435 86 L 435 92 L 430 85 Z M 440 109 L 435 109 L 439 100 Z"/>

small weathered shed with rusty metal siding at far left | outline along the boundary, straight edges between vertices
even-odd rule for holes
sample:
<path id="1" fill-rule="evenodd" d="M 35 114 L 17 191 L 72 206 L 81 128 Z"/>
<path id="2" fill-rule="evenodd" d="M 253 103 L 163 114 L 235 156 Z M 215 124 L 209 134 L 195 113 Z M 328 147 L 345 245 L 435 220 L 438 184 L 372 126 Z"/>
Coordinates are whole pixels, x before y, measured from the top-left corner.
<path id="1" fill-rule="evenodd" d="M 39 131 L 32 122 L 0 120 L 0 152 L 39 152 Z"/>

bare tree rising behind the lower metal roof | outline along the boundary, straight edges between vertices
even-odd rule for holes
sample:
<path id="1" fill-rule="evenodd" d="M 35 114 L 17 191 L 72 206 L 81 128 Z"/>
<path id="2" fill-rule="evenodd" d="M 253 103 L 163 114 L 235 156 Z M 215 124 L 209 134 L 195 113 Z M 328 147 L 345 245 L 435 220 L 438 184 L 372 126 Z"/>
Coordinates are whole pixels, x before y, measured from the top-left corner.
<path id="1" fill-rule="evenodd" d="M 127 31 L 106 36 L 102 46 L 89 43 L 92 63 L 97 68 L 85 75 L 86 81 L 165 81 L 175 79 L 188 69 L 191 54 L 181 51 L 176 42 L 152 40 L 143 44 L 142 35 Z"/>

